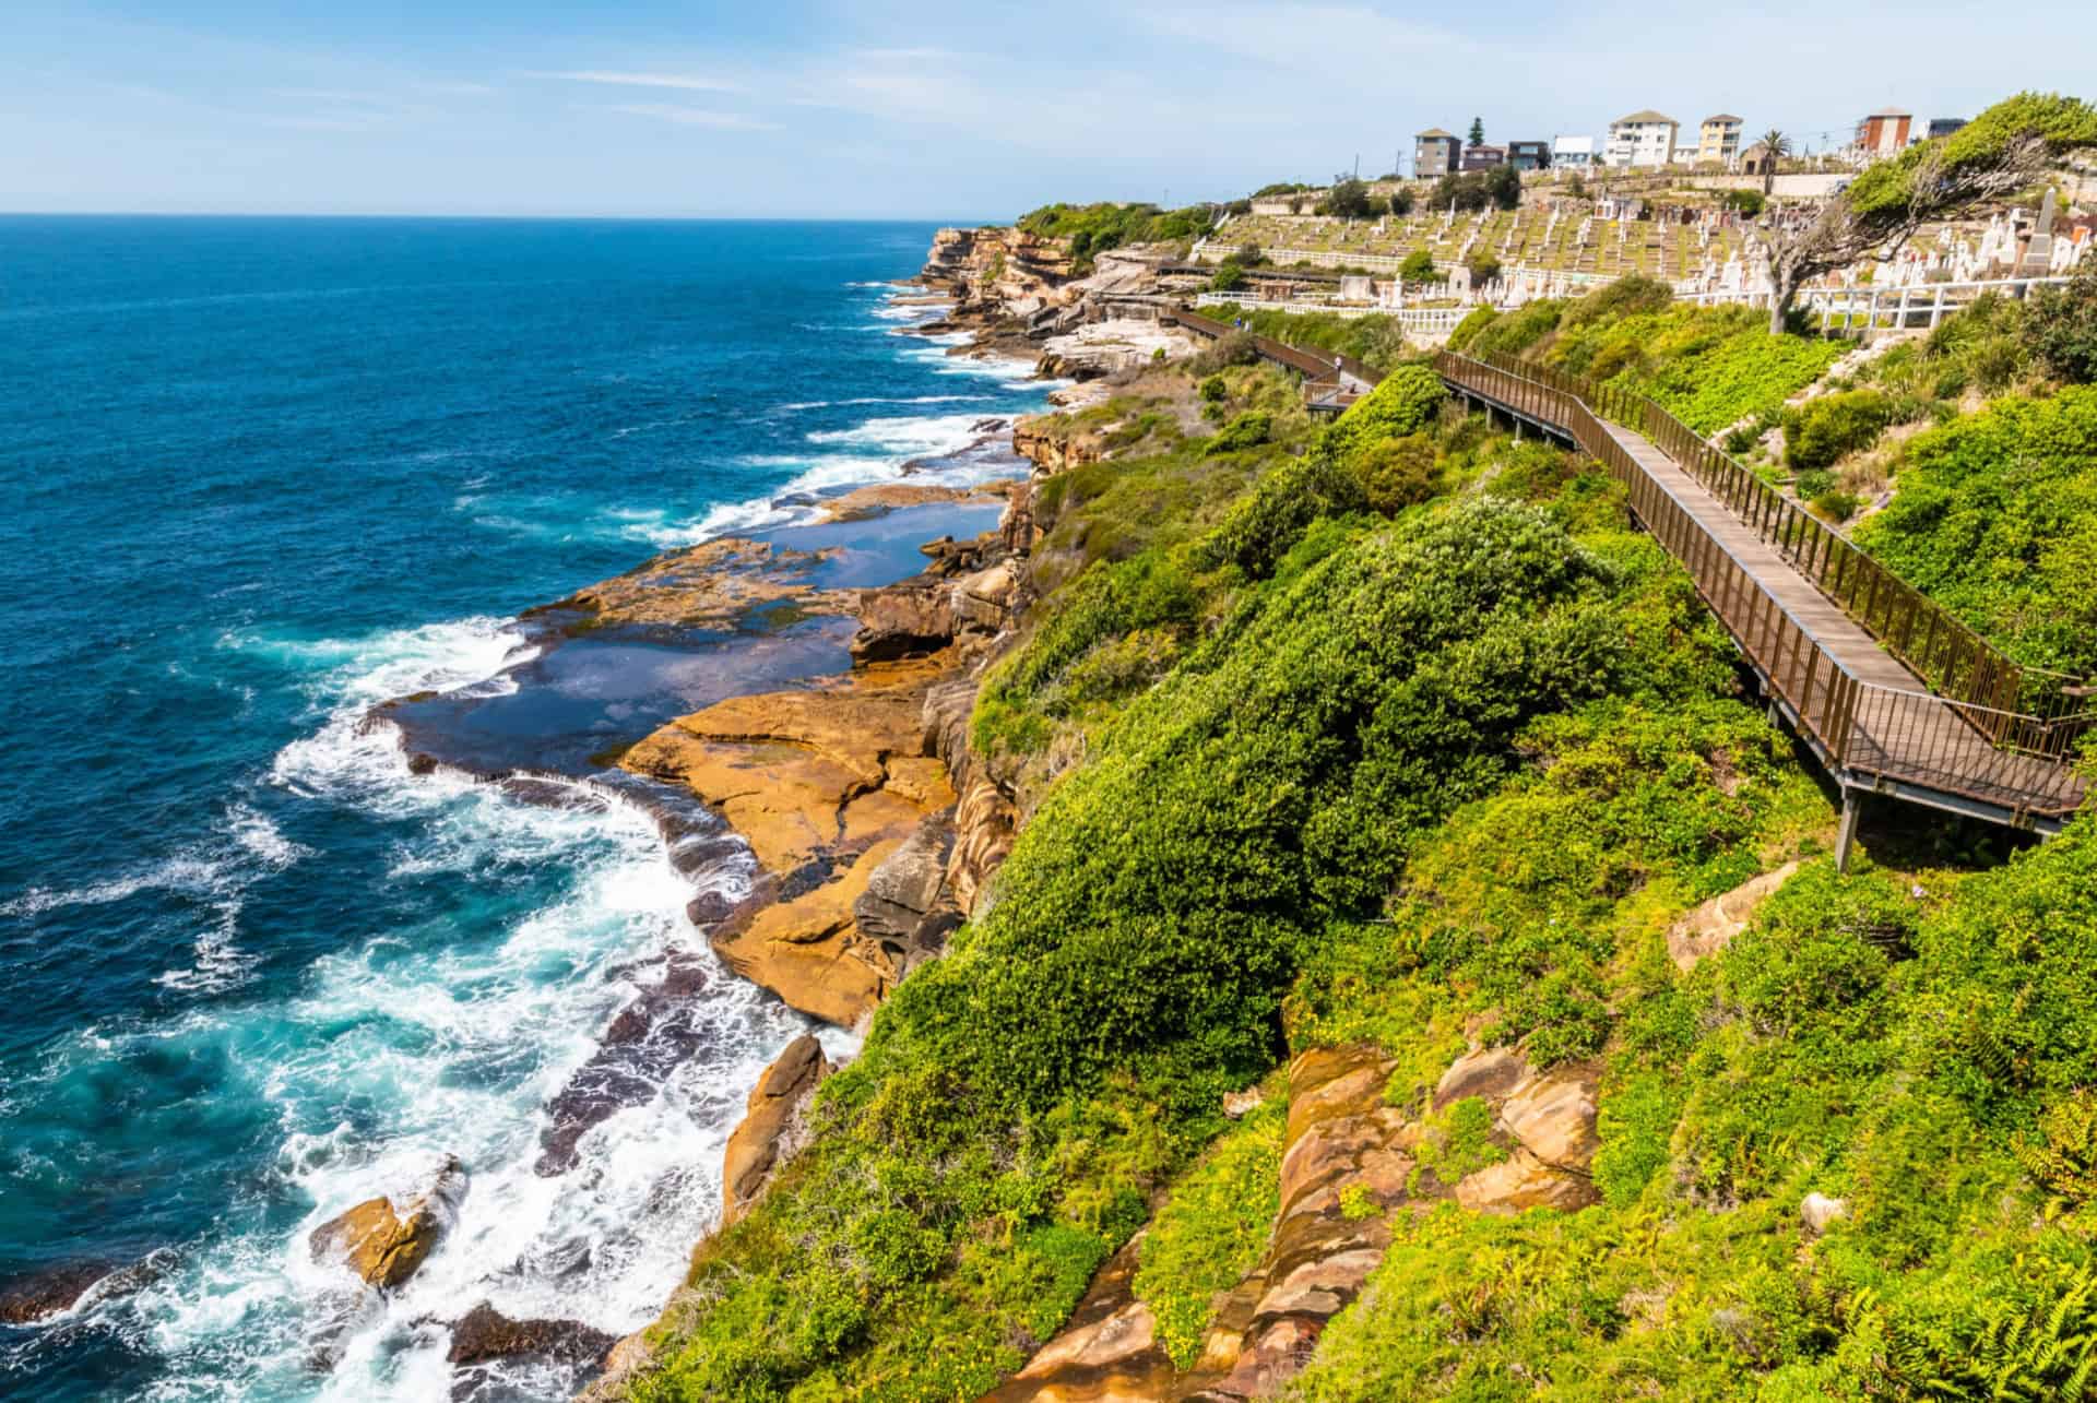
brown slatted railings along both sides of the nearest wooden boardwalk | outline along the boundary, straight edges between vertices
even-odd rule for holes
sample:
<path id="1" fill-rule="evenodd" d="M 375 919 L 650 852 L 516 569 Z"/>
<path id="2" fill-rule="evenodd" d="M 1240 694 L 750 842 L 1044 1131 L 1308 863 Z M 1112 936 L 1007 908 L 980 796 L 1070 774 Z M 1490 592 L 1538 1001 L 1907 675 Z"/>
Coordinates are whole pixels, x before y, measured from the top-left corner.
<path id="1" fill-rule="evenodd" d="M 2084 801 L 2068 761 L 2097 724 L 2087 692 L 2003 656 L 1650 398 L 1512 357 L 1441 352 L 1434 367 L 1451 384 L 1562 428 L 1623 482 L 1631 510 L 1688 568 L 1696 591 L 1835 765 L 2019 818 L 2059 818 Z M 1638 463 L 1610 422 L 1644 434 L 1927 690 L 1866 682 L 1845 667 Z"/>

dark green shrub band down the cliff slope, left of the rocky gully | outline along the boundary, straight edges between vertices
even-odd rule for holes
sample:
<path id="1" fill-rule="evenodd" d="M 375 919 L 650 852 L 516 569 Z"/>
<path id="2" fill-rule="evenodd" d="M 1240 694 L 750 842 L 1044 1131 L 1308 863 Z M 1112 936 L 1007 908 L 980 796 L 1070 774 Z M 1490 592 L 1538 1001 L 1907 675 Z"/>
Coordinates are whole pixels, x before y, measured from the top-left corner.
<path id="1" fill-rule="evenodd" d="M 1606 482 L 1441 419 L 1428 382 L 1395 377 L 1304 459 L 1250 449 L 1258 480 L 1350 472 L 1405 430 L 1483 493 L 1309 522 L 1269 495 L 1290 524 L 1260 570 L 1166 531 L 1063 587 L 1009 665 L 1004 734 L 1063 726 L 1059 688 L 1132 640 L 1172 635 L 1176 661 L 1086 717 L 1090 759 L 1040 797 L 996 904 L 881 1009 L 814 1145 L 694 1260 L 640 1397 L 986 1388 L 1210 1141 L 1218 1093 L 1277 1063 L 1298 973 L 1346 946 L 1329 931 L 1374 916 L 1455 805 L 1527 772 L 1531 724 L 1726 686 L 1694 596 Z M 1158 443 L 1160 468 L 1116 468 L 1248 455 Z M 1065 497 L 1055 531 L 1114 497 Z M 1193 1298 L 1187 1260 L 1160 1258 L 1160 1298 Z"/>

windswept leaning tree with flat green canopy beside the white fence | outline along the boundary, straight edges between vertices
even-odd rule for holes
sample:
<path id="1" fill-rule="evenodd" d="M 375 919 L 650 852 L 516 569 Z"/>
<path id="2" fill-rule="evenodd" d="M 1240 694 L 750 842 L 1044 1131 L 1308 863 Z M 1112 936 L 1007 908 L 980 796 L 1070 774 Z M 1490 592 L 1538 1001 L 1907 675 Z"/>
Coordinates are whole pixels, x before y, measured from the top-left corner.
<path id="1" fill-rule="evenodd" d="M 2032 187 L 2076 147 L 2097 147 L 2097 107 L 2072 96 L 2022 92 L 1996 103 L 1950 136 L 1908 147 L 1860 174 L 1820 212 L 1787 226 L 1770 218 L 1761 235 L 1770 277 L 1770 331 L 1782 331 L 1799 289 L 1864 258 L 1887 258 L 1931 220 Z"/>

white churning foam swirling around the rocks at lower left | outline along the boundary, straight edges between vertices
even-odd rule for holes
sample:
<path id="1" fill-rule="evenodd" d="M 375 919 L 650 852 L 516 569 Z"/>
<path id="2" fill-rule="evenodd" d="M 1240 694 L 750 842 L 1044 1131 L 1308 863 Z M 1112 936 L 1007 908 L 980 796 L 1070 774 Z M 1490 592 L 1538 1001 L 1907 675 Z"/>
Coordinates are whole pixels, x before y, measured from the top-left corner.
<path id="1" fill-rule="evenodd" d="M 442 1321 L 489 1300 L 520 1319 L 635 1330 L 717 1214 L 721 1149 L 742 1097 L 803 1028 L 719 967 L 694 1011 L 707 1026 L 702 1051 L 650 1097 L 591 1126 L 575 1168 L 535 1172 L 545 1103 L 635 994 L 619 971 L 673 948 L 713 958 L 684 919 L 690 885 L 654 820 L 604 791 L 543 807 L 411 776 L 382 736 L 354 726 L 380 696 L 489 686 L 516 642 L 474 619 L 346 642 L 239 644 L 323 669 L 319 728 L 285 747 L 277 782 L 396 824 L 392 881 L 461 895 L 442 925 L 319 958 L 287 1000 L 75 1038 L 75 1057 L 122 1057 L 145 1038 L 241 1049 L 235 1065 L 256 1078 L 243 1095 L 275 1105 L 283 1126 L 277 1185 L 262 1197 L 298 1193 L 310 1204 L 289 1231 L 252 1227 L 208 1242 L 138 1294 L 94 1307 L 99 1328 L 166 1359 L 151 1399 L 442 1399 Z M 304 856 L 252 805 L 229 812 L 226 833 L 250 866 Z M 564 883 L 537 910 L 487 931 L 466 914 L 474 893 L 497 900 L 547 872 Z M 214 879 L 199 868 L 185 881 Z M 189 979 L 164 984 L 201 988 L 239 958 L 231 944 L 199 946 Z M 247 1057 L 252 1049 L 264 1055 Z M 461 1160 L 470 1185 L 451 1233 L 407 1288 L 384 1300 L 350 1292 L 340 1267 L 312 1260 L 312 1227 L 380 1193 L 405 1202 L 426 1191 L 445 1156 Z M 308 1372 L 315 1346 L 336 1355 L 325 1378 Z M 575 1384 L 556 1367 L 503 1369 L 522 1397 L 566 1397 Z"/>

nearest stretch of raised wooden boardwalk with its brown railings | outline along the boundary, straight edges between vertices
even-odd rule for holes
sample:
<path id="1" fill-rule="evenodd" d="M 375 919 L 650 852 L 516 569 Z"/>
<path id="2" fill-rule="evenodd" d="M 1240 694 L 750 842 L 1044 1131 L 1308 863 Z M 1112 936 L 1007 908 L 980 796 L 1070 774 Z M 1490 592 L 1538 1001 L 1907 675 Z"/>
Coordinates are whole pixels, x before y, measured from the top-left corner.
<path id="1" fill-rule="evenodd" d="M 2040 833 L 2089 801 L 2068 763 L 2097 724 L 2087 688 L 2019 669 L 1650 401 L 1497 357 L 1443 352 L 1436 371 L 1625 484 L 1841 784 L 1843 858 L 1864 793 Z"/>

